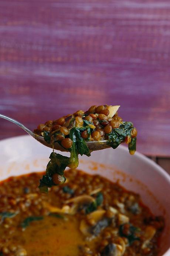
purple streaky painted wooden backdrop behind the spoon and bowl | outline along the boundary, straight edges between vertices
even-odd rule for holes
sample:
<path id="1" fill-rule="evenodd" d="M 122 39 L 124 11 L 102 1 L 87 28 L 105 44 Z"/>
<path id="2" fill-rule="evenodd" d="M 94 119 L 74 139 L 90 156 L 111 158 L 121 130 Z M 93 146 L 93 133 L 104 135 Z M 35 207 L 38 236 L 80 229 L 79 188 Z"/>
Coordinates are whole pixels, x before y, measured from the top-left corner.
<path id="1" fill-rule="evenodd" d="M 170 156 L 170 1 L 0 0 L 0 112 L 34 129 L 93 104 Z M 20 134 L 0 120 L 0 139 Z"/>

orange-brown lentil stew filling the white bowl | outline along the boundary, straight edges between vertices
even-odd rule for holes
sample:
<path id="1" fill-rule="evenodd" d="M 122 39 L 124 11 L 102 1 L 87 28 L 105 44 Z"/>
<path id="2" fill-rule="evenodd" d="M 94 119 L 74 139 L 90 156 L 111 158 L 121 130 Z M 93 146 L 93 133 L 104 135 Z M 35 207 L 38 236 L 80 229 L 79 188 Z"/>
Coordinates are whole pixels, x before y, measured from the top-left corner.
<path id="1" fill-rule="evenodd" d="M 41 194 L 42 173 L 0 184 L 1 256 L 156 256 L 163 217 L 140 196 L 75 169 Z"/>

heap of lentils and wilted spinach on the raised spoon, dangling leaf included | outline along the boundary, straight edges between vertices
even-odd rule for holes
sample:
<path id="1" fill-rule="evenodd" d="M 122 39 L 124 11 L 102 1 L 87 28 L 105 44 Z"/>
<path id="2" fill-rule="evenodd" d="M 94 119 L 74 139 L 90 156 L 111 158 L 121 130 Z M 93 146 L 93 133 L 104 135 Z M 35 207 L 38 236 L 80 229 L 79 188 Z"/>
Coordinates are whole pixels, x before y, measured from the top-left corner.
<path id="1" fill-rule="evenodd" d="M 88 111 L 76 111 L 54 121 L 38 125 L 34 133 L 44 137 L 47 143 L 58 142 L 71 153 L 65 157 L 52 152 L 47 165 L 46 174 L 40 180 L 41 192 L 47 192 L 48 187 L 65 182 L 64 170 L 78 167 L 78 154 L 91 155 L 86 141 L 108 141 L 113 149 L 126 142 L 130 154 L 136 151 L 137 130 L 132 122 L 124 122 L 118 116 L 119 105 L 91 106 Z"/>

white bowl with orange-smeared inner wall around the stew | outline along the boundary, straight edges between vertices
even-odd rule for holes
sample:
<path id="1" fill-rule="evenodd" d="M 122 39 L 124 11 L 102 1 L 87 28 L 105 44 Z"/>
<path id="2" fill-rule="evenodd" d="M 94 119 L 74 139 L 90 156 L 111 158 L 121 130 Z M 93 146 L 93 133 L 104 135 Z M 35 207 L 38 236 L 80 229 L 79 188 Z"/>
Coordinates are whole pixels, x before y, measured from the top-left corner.
<path id="1" fill-rule="evenodd" d="M 51 149 L 29 135 L 0 141 L 0 180 L 10 176 L 43 171 Z M 67 154 L 66 154 L 67 155 Z M 155 215 L 165 218 L 166 226 L 160 240 L 160 256 L 170 255 L 170 176 L 152 160 L 139 154 L 130 155 L 119 146 L 92 152 L 91 157 L 79 157 L 79 169 L 100 174 L 111 181 L 139 193 L 143 202 Z"/>

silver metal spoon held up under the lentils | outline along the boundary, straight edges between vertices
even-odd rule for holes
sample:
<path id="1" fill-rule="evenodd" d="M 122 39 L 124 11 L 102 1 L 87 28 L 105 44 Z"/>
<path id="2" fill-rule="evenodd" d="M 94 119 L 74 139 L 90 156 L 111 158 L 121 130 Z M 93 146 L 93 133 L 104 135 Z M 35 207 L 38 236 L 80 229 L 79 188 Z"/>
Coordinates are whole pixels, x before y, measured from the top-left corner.
<path id="1" fill-rule="evenodd" d="M 18 125 L 24 131 L 26 131 L 29 135 L 31 135 L 35 140 L 37 140 L 38 142 L 40 142 L 44 146 L 49 147 L 49 148 L 53 148 L 53 145 L 48 144 L 44 140 L 44 137 L 39 136 L 39 135 L 35 134 L 34 132 L 30 131 L 27 127 L 25 127 L 23 124 L 21 124 L 17 120 L 15 120 L 13 118 L 10 118 L 6 115 L 2 115 L 2 114 L 0 114 L 0 118 L 4 118 L 4 119 Z M 96 151 L 96 150 L 102 150 L 102 149 L 105 149 L 105 148 L 110 148 L 110 145 L 108 145 L 108 141 L 106 141 L 106 140 L 105 141 L 87 141 L 86 145 L 88 146 L 90 151 Z M 54 143 L 54 149 L 68 152 L 68 150 L 66 150 L 64 147 L 62 147 L 58 142 Z"/>

